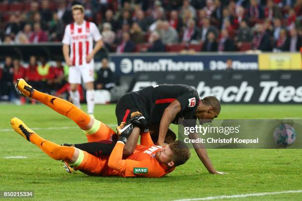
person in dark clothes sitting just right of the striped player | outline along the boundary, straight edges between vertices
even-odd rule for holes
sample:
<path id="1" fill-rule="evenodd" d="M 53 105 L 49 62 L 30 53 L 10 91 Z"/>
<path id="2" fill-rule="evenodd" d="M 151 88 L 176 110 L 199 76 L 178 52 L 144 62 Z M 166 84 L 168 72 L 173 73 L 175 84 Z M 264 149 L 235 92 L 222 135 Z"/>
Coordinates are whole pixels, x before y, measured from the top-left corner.
<path id="1" fill-rule="evenodd" d="M 100 90 L 111 90 L 115 87 L 115 83 L 113 82 L 113 72 L 109 68 L 108 59 L 104 58 L 102 60 L 102 68 L 97 71 L 98 78 L 95 82 L 95 89 Z"/>

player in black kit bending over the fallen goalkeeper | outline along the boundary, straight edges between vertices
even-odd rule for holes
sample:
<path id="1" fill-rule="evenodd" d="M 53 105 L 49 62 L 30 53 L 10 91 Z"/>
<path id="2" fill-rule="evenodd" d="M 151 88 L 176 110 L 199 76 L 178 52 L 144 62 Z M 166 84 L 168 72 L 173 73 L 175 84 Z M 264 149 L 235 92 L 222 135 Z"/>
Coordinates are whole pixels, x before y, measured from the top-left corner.
<path id="1" fill-rule="evenodd" d="M 133 112 L 141 112 L 147 120 L 152 140 L 165 146 L 164 142 L 170 143 L 176 139 L 176 135 L 169 129 L 171 123 L 178 124 L 179 120 L 185 119 L 211 122 L 218 117 L 220 110 L 220 102 L 216 97 L 200 100 L 197 91 L 187 85 L 162 84 L 125 94 L 117 102 L 115 115 L 119 125 L 129 120 Z M 215 170 L 204 148 L 194 148 L 210 173 L 224 173 Z"/>

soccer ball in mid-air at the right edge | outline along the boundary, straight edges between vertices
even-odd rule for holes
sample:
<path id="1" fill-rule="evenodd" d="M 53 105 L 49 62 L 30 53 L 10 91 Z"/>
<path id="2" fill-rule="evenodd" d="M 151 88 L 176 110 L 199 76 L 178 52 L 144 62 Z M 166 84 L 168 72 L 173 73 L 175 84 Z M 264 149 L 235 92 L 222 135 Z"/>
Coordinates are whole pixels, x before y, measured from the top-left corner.
<path id="1" fill-rule="evenodd" d="M 296 141 L 296 131 L 288 124 L 280 124 L 275 128 L 273 137 L 276 144 L 282 147 L 287 147 Z"/>

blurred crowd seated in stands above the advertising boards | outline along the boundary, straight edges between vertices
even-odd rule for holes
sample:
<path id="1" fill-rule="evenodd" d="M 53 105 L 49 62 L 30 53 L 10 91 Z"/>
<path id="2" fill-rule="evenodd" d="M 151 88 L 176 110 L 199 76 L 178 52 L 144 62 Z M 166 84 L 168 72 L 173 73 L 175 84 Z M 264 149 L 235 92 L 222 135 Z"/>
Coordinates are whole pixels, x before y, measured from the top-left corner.
<path id="1" fill-rule="evenodd" d="M 76 3 L 117 53 L 190 44 L 205 52 L 295 52 L 302 44 L 302 0 L 4 0 L 2 44 L 61 41 Z"/>

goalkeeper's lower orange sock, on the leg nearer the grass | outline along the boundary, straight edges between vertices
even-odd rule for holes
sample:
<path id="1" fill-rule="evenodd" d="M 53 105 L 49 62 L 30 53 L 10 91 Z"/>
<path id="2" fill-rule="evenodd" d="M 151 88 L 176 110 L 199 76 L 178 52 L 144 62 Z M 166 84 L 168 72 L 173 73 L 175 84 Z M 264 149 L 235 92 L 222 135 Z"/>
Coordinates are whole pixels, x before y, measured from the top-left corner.
<path id="1" fill-rule="evenodd" d="M 31 134 L 30 141 L 36 144 L 44 153 L 54 160 L 70 162 L 74 156 L 74 147 L 60 146 L 54 142 L 43 139 L 38 134 Z"/>

